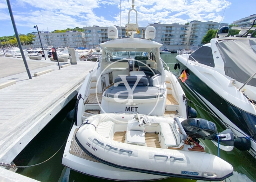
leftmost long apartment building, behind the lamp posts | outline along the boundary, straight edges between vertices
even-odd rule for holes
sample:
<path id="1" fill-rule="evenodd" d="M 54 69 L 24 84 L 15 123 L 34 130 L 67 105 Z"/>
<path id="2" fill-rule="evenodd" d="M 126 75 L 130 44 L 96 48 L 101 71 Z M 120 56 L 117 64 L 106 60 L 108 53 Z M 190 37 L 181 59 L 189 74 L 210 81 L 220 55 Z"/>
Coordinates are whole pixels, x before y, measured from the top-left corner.
<path id="1" fill-rule="evenodd" d="M 41 47 L 40 39 L 43 47 L 84 47 L 85 34 L 78 31 L 66 31 L 62 33 L 51 33 L 48 31 L 40 31 L 35 34 L 33 41 L 34 47 Z"/>

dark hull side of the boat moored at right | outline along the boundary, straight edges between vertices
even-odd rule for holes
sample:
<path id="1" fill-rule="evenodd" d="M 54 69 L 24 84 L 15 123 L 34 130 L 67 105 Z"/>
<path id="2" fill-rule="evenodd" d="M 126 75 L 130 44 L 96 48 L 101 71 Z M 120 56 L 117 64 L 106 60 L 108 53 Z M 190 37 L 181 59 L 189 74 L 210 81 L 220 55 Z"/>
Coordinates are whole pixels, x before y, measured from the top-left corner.
<path id="1" fill-rule="evenodd" d="M 179 60 L 181 69 L 185 68 Z M 231 129 L 234 136 L 251 138 L 252 131 L 250 130 L 249 123 L 251 120 L 256 120 L 256 116 L 243 111 L 241 108 L 236 107 L 229 101 L 225 100 L 221 95 L 217 94 L 205 82 L 203 82 L 197 75 L 194 74 L 191 68 L 189 69 L 189 77 L 185 82 L 185 86 L 192 91 L 193 94 L 199 98 L 206 107 L 208 107 L 216 116 L 221 119 L 222 124 Z M 230 127 L 232 126 L 232 127 Z M 251 138 L 251 148 L 249 153 L 256 158 L 256 141 Z"/>

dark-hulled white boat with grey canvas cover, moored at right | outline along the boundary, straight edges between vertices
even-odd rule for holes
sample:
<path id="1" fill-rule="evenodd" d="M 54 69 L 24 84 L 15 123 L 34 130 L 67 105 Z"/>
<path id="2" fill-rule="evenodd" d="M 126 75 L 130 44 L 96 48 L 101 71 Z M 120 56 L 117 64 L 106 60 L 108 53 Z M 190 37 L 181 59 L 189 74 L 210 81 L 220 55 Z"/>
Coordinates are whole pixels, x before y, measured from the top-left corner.
<path id="1" fill-rule="evenodd" d="M 250 27 L 232 29 L 242 36 Z M 256 38 L 225 33 L 176 59 L 180 73 L 185 69 L 188 75 L 185 85 L 232 130 L 235 146 L 256 158 Z"/>

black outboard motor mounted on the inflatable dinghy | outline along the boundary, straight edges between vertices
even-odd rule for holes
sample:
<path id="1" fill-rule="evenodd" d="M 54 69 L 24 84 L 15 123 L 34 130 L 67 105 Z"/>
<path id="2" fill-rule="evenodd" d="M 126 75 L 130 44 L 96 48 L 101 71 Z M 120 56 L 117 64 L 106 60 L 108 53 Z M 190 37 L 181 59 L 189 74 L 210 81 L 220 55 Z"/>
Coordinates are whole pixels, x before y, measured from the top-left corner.
<path id="1" fill-rule="evenodd" d="M 219 144 L 220 149 L 223 151 L 232 151 L 234 148 L 234 135 L 230 129 L 224 130 L 221 133 L 217 133 L 216 125 L 206 119 L 195 118 L 185 119 L 182 121 L 182 127 L 187 135 L 191 138 L 207 138 L 218 146 L 218 141 L 226 144 L 224 146 Z"/>

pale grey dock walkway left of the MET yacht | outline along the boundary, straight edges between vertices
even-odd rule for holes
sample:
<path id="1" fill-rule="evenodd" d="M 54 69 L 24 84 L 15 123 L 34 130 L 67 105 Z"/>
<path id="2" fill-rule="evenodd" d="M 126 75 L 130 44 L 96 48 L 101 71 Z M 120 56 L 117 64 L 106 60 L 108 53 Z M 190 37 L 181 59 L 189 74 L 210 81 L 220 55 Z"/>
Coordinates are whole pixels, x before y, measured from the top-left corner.
<path id="1" fill-rule="evenodd" d="M 17 82 L 0 89 L 0 162 L 11 162 L 59 113 L 78 93 L 95 64 L 79 61 L 59 70 L 51 61 L 27 62 L 32 65 L 31 75 L 46 69 L 53 71 L 28 79 L 24 64 L 20 64 L 22 59 L 0 57 L 0 83 Z"/>

